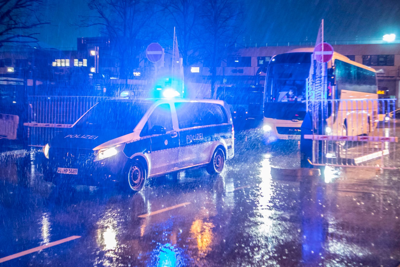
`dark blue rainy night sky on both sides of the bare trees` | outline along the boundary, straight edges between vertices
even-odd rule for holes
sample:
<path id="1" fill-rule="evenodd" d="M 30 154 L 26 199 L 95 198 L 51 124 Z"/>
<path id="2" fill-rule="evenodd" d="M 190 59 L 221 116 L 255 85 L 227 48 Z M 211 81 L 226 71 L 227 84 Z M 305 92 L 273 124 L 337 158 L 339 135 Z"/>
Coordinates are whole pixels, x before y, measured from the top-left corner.
<path id="1" fill-rule="evenodd" d="M 45 10 L 51 25 L 40 29 L 40 46 L 76 49 L 76 38 L 99 36 L 96 28 L 74 25 L 90 14 L 84 0 L 46 1 L 53 4 Z M 379 40 L 388 33 L 400 38 L 400 0 L 247 0 L 244 10 L 240 42 L 315 41 L 322 18 L 328 41 Z"/>

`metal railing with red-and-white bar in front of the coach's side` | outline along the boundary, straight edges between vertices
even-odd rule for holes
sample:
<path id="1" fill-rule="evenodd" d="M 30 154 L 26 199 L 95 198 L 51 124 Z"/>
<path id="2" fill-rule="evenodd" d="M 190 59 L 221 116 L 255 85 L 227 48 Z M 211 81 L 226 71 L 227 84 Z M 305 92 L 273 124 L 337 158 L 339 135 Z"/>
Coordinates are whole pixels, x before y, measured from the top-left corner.
<path id="1" fill-rule="evenodd" d="M 399 169 L 396 99 L 314 100 L 312 165 Z M 400 123 L 400 120 L 398 121 Z"/>

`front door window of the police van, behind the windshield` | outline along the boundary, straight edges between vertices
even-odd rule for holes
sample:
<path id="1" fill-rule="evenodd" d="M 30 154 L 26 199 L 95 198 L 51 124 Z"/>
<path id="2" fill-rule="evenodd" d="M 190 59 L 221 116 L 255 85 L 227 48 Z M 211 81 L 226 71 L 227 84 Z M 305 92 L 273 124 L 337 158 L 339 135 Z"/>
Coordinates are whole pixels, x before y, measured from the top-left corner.
<path id="1" fill-rule="evenodd" d="M 169 104 L 161 104 L 153 110 L 142 132 L 140 132 L 140 136 L 149 135 L 149 131 L 154 126 L 164 126 L 167 132 L 173 130 L 171 108 Z"/>

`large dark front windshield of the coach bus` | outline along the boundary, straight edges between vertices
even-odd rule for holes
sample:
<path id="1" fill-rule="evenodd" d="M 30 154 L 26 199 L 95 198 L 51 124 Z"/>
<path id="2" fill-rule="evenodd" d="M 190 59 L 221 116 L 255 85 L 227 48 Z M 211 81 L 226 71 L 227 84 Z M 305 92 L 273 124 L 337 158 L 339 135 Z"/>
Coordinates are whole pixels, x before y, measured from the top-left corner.
<path id="1" fill-rule="evenodd" d="M 287 53 L 274 57 L 266 78 L 266 102 L 306 102 L 306 79 L 312 53 Z"/>

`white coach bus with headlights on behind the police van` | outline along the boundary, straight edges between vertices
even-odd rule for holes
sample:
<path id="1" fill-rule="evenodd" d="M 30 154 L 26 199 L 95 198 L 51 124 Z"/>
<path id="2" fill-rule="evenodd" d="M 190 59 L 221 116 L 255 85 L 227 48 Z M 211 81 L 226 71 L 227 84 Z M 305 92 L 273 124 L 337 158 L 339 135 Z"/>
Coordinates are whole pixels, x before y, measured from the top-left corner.
<path id="1" fill-rule="evenodd" d="M 312 52 L 313 48 L 299 48 L 278 54 L 268 65 L 263 129 L 270 141 L 300 139 Z M 326 74 L 327 115 L 320 134 L 368 135 L 378 113 L 376 71 L 334 52 Z"/>

